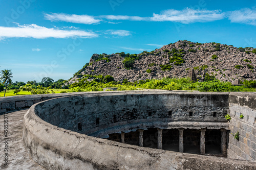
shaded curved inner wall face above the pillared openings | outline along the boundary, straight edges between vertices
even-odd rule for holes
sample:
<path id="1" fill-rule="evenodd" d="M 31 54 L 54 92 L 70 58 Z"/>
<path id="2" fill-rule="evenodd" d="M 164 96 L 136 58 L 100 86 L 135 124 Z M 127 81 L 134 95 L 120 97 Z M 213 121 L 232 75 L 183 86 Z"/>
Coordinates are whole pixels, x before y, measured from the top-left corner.
<path id="1" fill-rule="evenodd" d="M 106 128 L 152 122 L 166 129 L 177 127 L 175 122 L 198 122 L 192 125 L 198 129 L 206 126 L 205 123 L 210 127 L 210 123 L 215 126 L 227 122 L 224 115 L 228 112 L 228 93 L 137 91 L 84 94 L 40 103 L 36 109 L 41 119 L 57 127 L 78 132 L 78 123 L 81 123 L 79 133 L 88 135 Z M 168 115 L 169 111 L 172 116 Z M 216 117 L 214 112 L 217 112 Z M 219 129 L 221 125 L 225 127 L 225 124 L 219 125 Z"/>

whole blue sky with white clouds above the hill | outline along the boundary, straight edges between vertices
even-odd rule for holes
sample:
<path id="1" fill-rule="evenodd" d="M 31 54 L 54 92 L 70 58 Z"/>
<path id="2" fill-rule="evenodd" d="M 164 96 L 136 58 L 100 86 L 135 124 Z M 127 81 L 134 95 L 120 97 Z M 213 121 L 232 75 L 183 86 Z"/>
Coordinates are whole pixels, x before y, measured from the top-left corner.
<path id="1" fill-rule="evenodd" d="M 256 0 L 0 0 L 0 69 L 14 81 L 69 79 L 94 53 L 170 42 L 256 47 Z"/>

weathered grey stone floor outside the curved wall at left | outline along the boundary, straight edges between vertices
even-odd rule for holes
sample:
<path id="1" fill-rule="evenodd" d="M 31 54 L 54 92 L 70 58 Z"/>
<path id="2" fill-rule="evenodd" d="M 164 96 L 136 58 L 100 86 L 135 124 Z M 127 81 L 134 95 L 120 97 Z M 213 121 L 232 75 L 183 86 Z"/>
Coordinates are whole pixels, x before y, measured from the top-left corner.
<path id="1" fill-rule="evenodd" d="M 22 141 L 23 131 L 23 117 L 26 110 L 19 110 L 15 112 L 9 112 L 6 114 L 8 117 L 8 136 L 4 134 L 4 117 L 0 115 L 0 169 L 15 169 L 15 170 L 34 170 L 34 169 L 45 169 L 38 165 L 30 157 L 29 152 L 25 150 Z M 8 140 L 8 151 L 5 151 L 4 141 Z M 8 166 L 5 165 L 4 156 L 8 153 Z"/>

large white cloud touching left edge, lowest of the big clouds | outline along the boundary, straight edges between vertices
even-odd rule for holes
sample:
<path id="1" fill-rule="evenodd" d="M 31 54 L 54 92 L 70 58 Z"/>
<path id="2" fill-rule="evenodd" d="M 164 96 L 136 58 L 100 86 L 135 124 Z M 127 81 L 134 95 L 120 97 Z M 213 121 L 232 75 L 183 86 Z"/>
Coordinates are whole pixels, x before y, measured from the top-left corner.
<path id="1" fill-rule="evenodd" d="M 23 25 L 18 27 L 0 27 L 0 40 L 9 37 L 24 37 L 24 38 L 92 38 L 98 35 L 94 32 L 86 32 L 79 30 L 59 30 L 55 28 L 40 27 L 35 24 Z"/>

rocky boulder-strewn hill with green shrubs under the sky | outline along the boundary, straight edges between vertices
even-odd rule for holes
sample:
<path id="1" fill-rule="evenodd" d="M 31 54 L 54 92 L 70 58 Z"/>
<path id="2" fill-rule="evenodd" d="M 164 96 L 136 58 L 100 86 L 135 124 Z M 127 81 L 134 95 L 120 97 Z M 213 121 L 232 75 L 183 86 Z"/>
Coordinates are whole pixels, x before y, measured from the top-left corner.
<path id="1" fill-rule="evenodd" d="M 255 80 L 256 49 L 237 48 L 220 43 L 195 43 L 187 40 L 164 45 L 140 54 L 94 54 L 69 83 L 83 75 L 111 75 L 116 81 L 187 77 L 191 69 L 203 81 L 214 76 L 231 83 L 236 79 Z"/>

